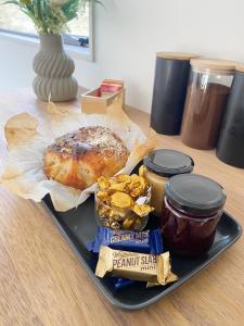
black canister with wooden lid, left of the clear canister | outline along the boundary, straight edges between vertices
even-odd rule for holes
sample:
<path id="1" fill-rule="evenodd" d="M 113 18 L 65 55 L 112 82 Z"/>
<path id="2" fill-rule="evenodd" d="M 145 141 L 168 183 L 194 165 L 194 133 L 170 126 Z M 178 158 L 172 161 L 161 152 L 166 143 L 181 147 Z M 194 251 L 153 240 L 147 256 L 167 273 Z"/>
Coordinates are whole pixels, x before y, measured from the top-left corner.
<path id="1" fill-rule="evenodd" d="M 177 52 L 156 55 L 151 127 L 158 134 L 180 134 L 192 58 L 196 55 Z"/>

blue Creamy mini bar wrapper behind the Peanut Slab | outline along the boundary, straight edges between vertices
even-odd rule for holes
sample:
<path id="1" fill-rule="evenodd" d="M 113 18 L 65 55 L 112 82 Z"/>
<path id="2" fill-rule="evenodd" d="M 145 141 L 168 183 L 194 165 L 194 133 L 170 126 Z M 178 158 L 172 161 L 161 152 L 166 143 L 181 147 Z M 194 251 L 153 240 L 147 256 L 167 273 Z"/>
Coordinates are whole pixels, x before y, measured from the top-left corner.
<path id="1" fill-rule="evenodd" d="M 163 252 L 159 228 L 155 230 L 131 231 L 99 227 L 95 239 L 87 243 L 87 248 L 93 253 L 99 253 L 101 246 L 141 253 L 160 254 Z"/>

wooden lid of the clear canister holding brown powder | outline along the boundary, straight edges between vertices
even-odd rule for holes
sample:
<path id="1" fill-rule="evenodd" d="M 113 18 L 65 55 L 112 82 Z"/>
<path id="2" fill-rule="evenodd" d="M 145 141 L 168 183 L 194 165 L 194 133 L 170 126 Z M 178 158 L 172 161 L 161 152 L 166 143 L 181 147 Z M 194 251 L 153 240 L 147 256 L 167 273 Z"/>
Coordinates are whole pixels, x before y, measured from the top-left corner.
<path id="1" fill-rule="evenodd" d="M 191 65 L 203 70 L 234 71 L 236 63 L 219 59 L 192 59 Z"/>

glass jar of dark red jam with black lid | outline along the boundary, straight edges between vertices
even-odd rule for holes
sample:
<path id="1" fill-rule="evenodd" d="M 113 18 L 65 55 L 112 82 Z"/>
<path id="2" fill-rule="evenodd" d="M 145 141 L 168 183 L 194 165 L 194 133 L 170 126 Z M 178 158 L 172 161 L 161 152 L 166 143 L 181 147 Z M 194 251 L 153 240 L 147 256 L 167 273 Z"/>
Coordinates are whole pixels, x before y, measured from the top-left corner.
<path id="1" fill-rule="evenodd" d="M 207 177 L 183 174 L 170 178 L 160 220 L 169 250 L 185 256 L 206 252 L 215 240 L 226 198 L 223 188 Z"/>

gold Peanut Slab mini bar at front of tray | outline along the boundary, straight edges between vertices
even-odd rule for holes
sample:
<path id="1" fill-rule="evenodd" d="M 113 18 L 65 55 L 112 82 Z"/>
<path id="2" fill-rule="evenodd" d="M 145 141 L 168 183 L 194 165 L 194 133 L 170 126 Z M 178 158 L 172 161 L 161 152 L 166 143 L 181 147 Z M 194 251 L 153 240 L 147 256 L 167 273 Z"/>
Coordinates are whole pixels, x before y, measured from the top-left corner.
<path id="1" fill-rule="evenodd" d="M 171 272 L 169 252 L 154 255 L 113 250 L 102 246 L 95 275 L 103 278 L 107 273 L 116 277 L 147 281 L 147 287 L 177 280 L 177 276 Z"/>

